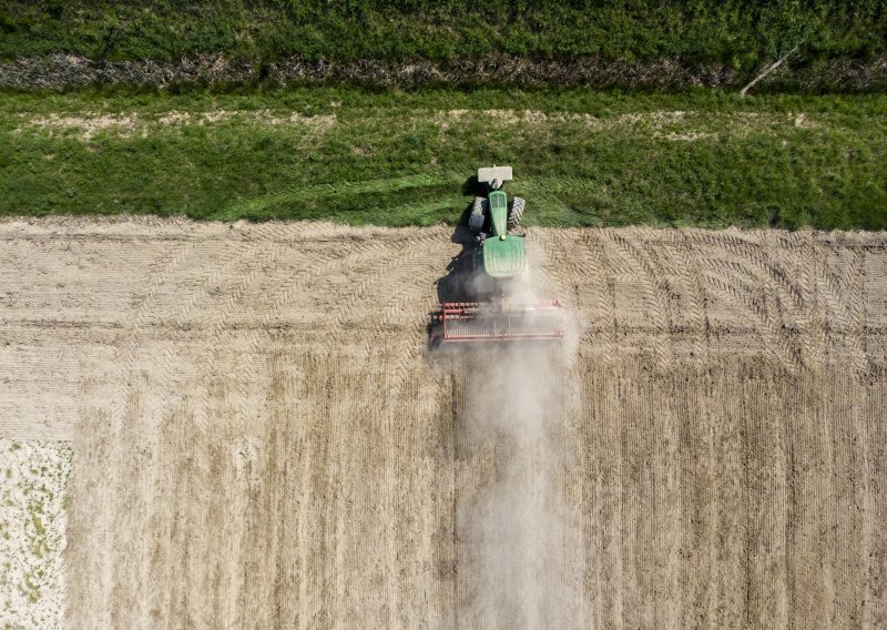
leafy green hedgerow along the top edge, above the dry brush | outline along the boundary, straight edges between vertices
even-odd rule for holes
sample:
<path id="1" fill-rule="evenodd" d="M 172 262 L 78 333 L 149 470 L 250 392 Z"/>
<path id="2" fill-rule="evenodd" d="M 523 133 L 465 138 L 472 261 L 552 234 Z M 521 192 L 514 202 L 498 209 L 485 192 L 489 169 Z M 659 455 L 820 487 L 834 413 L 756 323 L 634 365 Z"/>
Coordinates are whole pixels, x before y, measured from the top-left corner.
<path id="1" fill-rule="evenodd" d="M 383 61 L 680 57 L 753 71 L 887 52 L 887 0 L 6 0 L 0 58 Z"/>

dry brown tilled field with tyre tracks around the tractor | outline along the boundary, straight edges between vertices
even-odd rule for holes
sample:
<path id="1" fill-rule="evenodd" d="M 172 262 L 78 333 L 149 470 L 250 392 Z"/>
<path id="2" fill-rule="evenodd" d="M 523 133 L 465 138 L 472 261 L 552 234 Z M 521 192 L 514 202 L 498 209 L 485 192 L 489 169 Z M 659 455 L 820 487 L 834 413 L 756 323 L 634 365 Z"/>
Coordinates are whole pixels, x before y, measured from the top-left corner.
<path id="1" fill-rule="evenodd" d="M 533 230 L 526 356 L 428 350 L 451 236 L 0 223 L 72 627 L 887 626 L 887 236 Z"/>

